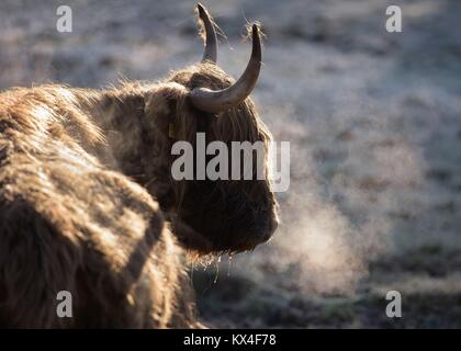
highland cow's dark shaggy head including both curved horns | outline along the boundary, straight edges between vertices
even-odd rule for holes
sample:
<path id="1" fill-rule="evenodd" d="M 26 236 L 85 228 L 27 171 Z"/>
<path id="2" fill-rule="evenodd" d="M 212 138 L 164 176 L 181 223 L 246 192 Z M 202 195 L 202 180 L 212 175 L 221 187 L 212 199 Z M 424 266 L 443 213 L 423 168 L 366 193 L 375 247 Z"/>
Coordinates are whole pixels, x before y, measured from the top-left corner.
<path id="1" fill-rule="evenodd" d="M 167 184 L 151 182 L 151 186 L 156 188 L 153 192 L 168 214 L 173 233 L 185 247 L 200 253 L 243 251 L 267 241 L 278 226 L 278 205 L 267 172 L 263 179 L 256 179 L 255 152 L 252 180 L 211 180 L 209 174 L 198 180 L 196 168 L 203 165 L 198 163 L 201 151 L 195 141 L 196 133 L 204 133 L 206 145 L 221 140 L 228 146 L 229 178 L 235 167 L 232 141 L 260 141 L 265 145 L 262 167 L 267 170 L 271 135 L 248 98 L 261 67 L 260 34 L 255 24 L 251 58 L 235 82 L 217 67 L 214 26 L 206 10 L 200 4 L 198 10 L 206 36 L 203 60 L 173 72 L 149 91 L 146 102 L 146 114 L 156 131 L 154 143 L 169 170 Z M 171 166 L 180 157 L 171 155 L 177 141 L 193 146 L 194 180 L 178 181 L 171 176 Z M 206 162 L 212 158 L 209 156 Z"/>

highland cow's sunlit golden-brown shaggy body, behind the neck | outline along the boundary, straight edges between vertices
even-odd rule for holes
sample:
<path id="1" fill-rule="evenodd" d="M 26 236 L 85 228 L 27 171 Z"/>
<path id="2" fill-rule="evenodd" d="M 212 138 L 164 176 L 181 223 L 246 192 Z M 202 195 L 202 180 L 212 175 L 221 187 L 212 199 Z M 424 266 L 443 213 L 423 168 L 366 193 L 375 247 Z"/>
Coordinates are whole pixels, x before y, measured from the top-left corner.
<path id="1" fill-rule="evenodd" d="M 192 325 L 158 204 L 87 152 L 100 132 L 61 92 L 0 94 L 0 326 Z M 59 291 L 72 318 L 57 316 Z"/>

